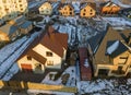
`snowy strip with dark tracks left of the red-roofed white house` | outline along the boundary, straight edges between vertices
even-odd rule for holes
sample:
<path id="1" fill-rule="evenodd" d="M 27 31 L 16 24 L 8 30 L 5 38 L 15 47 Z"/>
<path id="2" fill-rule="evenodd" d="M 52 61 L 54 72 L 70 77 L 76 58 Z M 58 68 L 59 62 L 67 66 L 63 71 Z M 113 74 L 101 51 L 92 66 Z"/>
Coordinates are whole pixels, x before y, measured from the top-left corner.
<path id="1" fill-rule="evenodd" d="M 13 74 L 17 72 L 15 60 L 22 55 L 27 46 L 37 37 L 39 33 L 34 33 L 29 38 L 23 37 L 12 44 L 7 45 L 0 50 L 0 78 L 3 81 L 9 81 Z M 16 70 L 16 71 L 15 71 Z M 13 73 L 12 73 L 13 71 Z"/>

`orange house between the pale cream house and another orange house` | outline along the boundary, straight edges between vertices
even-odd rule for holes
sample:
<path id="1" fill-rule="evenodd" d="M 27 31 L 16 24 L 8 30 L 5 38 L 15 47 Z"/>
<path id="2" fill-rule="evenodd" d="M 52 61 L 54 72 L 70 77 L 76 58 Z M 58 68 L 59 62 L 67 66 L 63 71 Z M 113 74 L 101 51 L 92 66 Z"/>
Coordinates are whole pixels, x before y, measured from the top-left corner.
<path id="1" fill-rule="evenodd" d="M 74 9 L 71 4 L 64 4 L 59 12 L 63 16 L 74 16 Z"/>

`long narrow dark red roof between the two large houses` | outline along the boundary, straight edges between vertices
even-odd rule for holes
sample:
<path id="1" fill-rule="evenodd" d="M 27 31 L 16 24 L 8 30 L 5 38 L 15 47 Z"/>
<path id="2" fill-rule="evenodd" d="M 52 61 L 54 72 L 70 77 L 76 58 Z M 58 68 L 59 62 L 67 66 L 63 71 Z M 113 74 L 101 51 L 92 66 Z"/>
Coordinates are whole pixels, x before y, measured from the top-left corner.
<path id="1" fill-rule="evenodd" d="M 86 81 L 92 79 L 92 69 L 90 63 L 85 64 L 85 60 L 87 59 L 87 49 L 84 47 L 79 48 L 80 56 L 80 73 L 81 80 Z"/>

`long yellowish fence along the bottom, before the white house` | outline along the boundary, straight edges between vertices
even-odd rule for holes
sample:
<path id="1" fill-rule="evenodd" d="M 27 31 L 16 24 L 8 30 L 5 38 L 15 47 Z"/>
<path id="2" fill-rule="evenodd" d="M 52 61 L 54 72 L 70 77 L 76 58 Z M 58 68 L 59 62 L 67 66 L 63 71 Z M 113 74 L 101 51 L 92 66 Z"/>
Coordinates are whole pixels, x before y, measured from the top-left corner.
<path id="1" fill-rule="evenodd" d="M 49 85 L 41 83 L 32 83 L 32 82 L 17 82 L 17 81 L 0 81 L 1 90 L 12 90 L 12 91 L 22 91 L 22 90 L 44 90 L 44 91 L 55 91 L 55 92 L 67 92 L 67 93 L 76 93 L 76 87 L 69 87 L 63 85 Z"/>

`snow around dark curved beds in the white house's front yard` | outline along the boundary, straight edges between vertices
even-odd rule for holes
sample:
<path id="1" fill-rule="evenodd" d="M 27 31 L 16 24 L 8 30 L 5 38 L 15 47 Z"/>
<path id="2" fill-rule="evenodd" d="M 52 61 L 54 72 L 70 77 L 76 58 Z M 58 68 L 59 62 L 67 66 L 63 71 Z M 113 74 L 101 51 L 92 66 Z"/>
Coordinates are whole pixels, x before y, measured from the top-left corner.
<path id="1" fill-rule="evenodd" d="M 73 72 L 72 72 L 72 70 L 73 70 Z M 62 73 L 62 75 L 66 74 L 66 73 L 70 74 L 70 78 L 69 78 L 66 85 L 67 86 L 75 86 L 75 67 L 69 67 L 68 69 L 66 69 L 66 71 Z M 49 74 L 57 74 L 57 72 L 49 72 L 45 76 L 45 79 L 41 81 L 41 83 L 53 84 L 53 85 L 62 85 L 62 80 L 61 80 L 62 75 L 57 81 L 53 81 L 53 80 L 50 80 Z"/>

